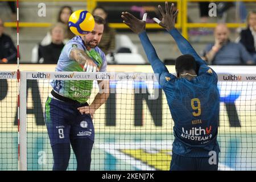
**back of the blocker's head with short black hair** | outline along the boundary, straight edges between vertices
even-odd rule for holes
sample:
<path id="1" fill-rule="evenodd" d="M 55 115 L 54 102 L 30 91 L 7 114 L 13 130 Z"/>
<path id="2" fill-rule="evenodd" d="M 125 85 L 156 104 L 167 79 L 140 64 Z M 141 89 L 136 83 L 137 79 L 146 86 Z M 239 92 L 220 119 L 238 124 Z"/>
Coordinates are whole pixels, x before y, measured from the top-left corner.
<path id="1" fill-rule="evenodd" d="M 177 77 L 180 77 L 181 73 L 191 73 L 193 75 L 196 72 L 196 60 L 191 55 L 179 56 L 175 61 L 175 69 Z"/>

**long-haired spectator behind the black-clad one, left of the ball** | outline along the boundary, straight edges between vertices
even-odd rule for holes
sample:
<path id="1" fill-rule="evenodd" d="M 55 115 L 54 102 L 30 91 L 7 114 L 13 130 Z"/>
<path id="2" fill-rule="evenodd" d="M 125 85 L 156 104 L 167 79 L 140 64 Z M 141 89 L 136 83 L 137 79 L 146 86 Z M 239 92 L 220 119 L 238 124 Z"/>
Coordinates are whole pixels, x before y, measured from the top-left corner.
<path id="1" fill-rule="evenodd" d="M 57 22 L 63 23 L 65 26 L 64 43 L 67 43 L 68 40 L 72 39 L 75 36 L 68 27 L 68 19 L 72 13 L 73 11 L 70 6 L 63 6 L 61 7 L 58 18 L 57 18 Z M 46 37 L 44 37 L 44 39 L 42 40 L 41 45 L 46 46 L 50 43 L 51 43 L 51 34 L 50 32 L 48 32 Z"/>

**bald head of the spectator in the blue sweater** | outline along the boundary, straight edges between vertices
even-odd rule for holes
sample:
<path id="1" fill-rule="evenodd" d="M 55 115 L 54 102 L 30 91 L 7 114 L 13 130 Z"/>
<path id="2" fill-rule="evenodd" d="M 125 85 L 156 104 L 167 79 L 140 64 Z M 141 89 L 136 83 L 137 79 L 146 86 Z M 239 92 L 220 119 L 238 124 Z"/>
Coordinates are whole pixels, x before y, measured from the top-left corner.
<path id="1" fill-rule="evenodd" d="M 214 30 L 214 36 L 220 44 L 227 42 L 229 39 L 229 28 L 224 23 L 218 24 Z"/>

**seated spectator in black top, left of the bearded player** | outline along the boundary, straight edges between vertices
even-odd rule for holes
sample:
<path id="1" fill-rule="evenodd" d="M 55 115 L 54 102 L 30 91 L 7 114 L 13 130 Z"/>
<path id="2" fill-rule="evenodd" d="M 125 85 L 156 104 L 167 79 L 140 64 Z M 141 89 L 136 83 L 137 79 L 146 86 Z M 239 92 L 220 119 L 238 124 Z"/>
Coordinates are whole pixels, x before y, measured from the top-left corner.
<path id="1" fill-rule="evenodd" d="M 52 42 L 47 46 L 39 45 L 38 63 L 57 64 L 60 52 L 64 47 L 64 31 L 65 27 L 62 23 L 56 23 L 55 26 L 51 28 Z"/>

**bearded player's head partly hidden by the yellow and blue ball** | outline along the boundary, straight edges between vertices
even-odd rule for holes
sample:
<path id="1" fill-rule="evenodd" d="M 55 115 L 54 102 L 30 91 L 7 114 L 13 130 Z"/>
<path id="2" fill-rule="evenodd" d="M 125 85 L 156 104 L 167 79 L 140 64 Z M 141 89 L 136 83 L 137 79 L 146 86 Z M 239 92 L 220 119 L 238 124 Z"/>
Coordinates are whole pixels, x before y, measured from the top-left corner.
<path id="1" fill-rule="evenodd" d="M 104 31 L 105 20 L 100 16 L 93 16 L 95 20 L 95 26 L 93 31 L 82 36 L 86 46 L 90 48 L 95 48 L 101 42 L 101 37 Z"/>

